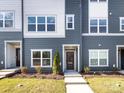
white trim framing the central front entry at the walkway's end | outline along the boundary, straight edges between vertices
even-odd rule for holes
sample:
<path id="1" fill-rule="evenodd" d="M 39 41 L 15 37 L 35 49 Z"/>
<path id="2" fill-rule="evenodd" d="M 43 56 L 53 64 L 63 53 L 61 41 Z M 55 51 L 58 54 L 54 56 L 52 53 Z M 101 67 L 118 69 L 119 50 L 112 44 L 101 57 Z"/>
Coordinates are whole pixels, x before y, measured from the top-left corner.
<path id="1" fill-rule="evenodd" d="M 62 53 L 63 53 L 63 72 L 66 70 L 65 62 L 65 46 L 76 46 L 78 48 L 78 72 L 80 71 L 80 45 L 79 44 L 63 44 Z"/>

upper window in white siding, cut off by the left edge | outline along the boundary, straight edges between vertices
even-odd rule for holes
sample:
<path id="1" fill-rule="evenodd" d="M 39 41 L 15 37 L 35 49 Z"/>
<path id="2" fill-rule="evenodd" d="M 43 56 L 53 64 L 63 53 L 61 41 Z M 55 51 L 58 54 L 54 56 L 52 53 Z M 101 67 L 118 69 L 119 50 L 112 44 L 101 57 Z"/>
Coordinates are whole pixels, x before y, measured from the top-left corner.
<path id="1" fill-rule="evenodd" d="M 0 28 L 12 28 L 14 24 L 13 12 L 0 12 Z"/>

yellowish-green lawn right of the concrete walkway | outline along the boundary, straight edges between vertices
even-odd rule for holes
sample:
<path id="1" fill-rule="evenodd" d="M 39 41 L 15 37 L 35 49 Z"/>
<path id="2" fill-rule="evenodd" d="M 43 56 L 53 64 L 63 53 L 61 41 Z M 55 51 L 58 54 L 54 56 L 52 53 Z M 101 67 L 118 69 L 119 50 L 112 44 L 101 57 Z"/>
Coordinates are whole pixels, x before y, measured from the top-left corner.
<path id="1" fill-rule="evenodd" d="M 124 77 L 86 78 L 95 93 L 124 93 Z"/>

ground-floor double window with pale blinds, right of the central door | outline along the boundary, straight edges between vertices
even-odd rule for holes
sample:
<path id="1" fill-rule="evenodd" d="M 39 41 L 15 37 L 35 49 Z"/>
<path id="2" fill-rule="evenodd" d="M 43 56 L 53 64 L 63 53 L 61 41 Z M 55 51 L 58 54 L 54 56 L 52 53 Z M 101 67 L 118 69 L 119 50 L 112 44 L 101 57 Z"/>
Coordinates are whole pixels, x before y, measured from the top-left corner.
<path id="1" fill-rule="evenodd" d="M 108 66 L 108 50 L 89 50 L 89 66 Z"/>

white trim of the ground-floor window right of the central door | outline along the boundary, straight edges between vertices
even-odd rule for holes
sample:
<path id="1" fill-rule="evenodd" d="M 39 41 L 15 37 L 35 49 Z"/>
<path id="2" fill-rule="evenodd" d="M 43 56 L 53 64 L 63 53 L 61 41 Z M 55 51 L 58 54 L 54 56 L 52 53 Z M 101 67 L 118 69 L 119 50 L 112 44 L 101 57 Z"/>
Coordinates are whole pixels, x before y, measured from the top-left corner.
<path id="1" fill-rule="evenodd" d="M 89 49 L 89 54 L 90 54 L 90 51 L 97 51 L 98 52 L 98 65 L 91 65 L 91 62 L 90 62 L 90 56 L 89 56 L 89 67 L 108 67 L 109 66 L 109 49 Z M 106 51 L 107 52 L 107 65 L 99 65 L 99 52 L 100 51 Z"/>

